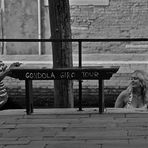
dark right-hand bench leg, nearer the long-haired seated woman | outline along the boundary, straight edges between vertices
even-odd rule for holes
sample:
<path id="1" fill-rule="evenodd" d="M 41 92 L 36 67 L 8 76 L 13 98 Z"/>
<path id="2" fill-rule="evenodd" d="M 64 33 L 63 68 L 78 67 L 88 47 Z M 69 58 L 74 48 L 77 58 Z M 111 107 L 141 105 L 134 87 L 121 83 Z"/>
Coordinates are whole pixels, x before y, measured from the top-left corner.
<path id="1" fill-rule="evenodd" d="M 99 113 L 104 112 L 104 80 L 99 80 Z"/>

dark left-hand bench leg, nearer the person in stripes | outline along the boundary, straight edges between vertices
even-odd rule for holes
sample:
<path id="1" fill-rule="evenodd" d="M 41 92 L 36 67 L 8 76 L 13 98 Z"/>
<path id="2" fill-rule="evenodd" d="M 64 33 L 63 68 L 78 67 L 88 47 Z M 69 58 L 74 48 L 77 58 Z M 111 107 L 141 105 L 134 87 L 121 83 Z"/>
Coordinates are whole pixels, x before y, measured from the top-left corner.
<path id="1" fill-rule="evenodd" d="M 32 92 L 32 80 L 25 80 L 26 87 L 26 113 L 30 115 L 33 113 L 33 92 Z"/>

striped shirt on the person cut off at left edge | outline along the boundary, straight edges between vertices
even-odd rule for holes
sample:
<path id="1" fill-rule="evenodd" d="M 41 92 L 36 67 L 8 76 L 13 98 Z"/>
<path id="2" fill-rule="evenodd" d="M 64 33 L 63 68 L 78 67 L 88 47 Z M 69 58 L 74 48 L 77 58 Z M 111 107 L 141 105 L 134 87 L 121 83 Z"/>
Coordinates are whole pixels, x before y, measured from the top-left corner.
<path id="1" fill-rule="evenodd" d="M 5 64 L 0 62 L 0 73 L 4 72 Z M 4 85 L 3 81 L 0 81 L 0 107 L 4 105 L 8 100 L 8 94 L 6 90 L 6 86 Z"/>

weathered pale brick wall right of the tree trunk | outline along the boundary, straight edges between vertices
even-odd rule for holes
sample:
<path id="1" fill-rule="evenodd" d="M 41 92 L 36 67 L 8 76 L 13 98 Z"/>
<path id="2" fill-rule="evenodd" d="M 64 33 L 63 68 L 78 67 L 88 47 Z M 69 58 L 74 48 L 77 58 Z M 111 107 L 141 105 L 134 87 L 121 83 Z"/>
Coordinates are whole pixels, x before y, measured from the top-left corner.
<path id="1" fill-rule="evenodd" d="M 107 6 L 74 5 L 71 6 L 71 23 L 74 38 L 146 38 L 148 37 L 148 2 L 147 0 L 110 0 Z M 134 46 L 134 44 L 142 46 Z M 140 42 L 85 43 L 83 51 L 84 53 L 147 53 L 147 47 L 147 43 Z"/>

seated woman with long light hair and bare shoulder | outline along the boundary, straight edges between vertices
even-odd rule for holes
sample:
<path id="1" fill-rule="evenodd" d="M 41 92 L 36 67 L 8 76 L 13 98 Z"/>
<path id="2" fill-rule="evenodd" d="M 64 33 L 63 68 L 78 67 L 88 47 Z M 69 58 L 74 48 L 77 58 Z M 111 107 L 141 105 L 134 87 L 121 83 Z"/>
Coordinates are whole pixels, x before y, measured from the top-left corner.
<path id="1" fill-rule="evenodd" d="M 116 108 L 147 108 L 148 104 L 148 76 L 141 70 L 136 70 L 131 75 L 131 83 L 126 90 L 118 96 Z"/>

